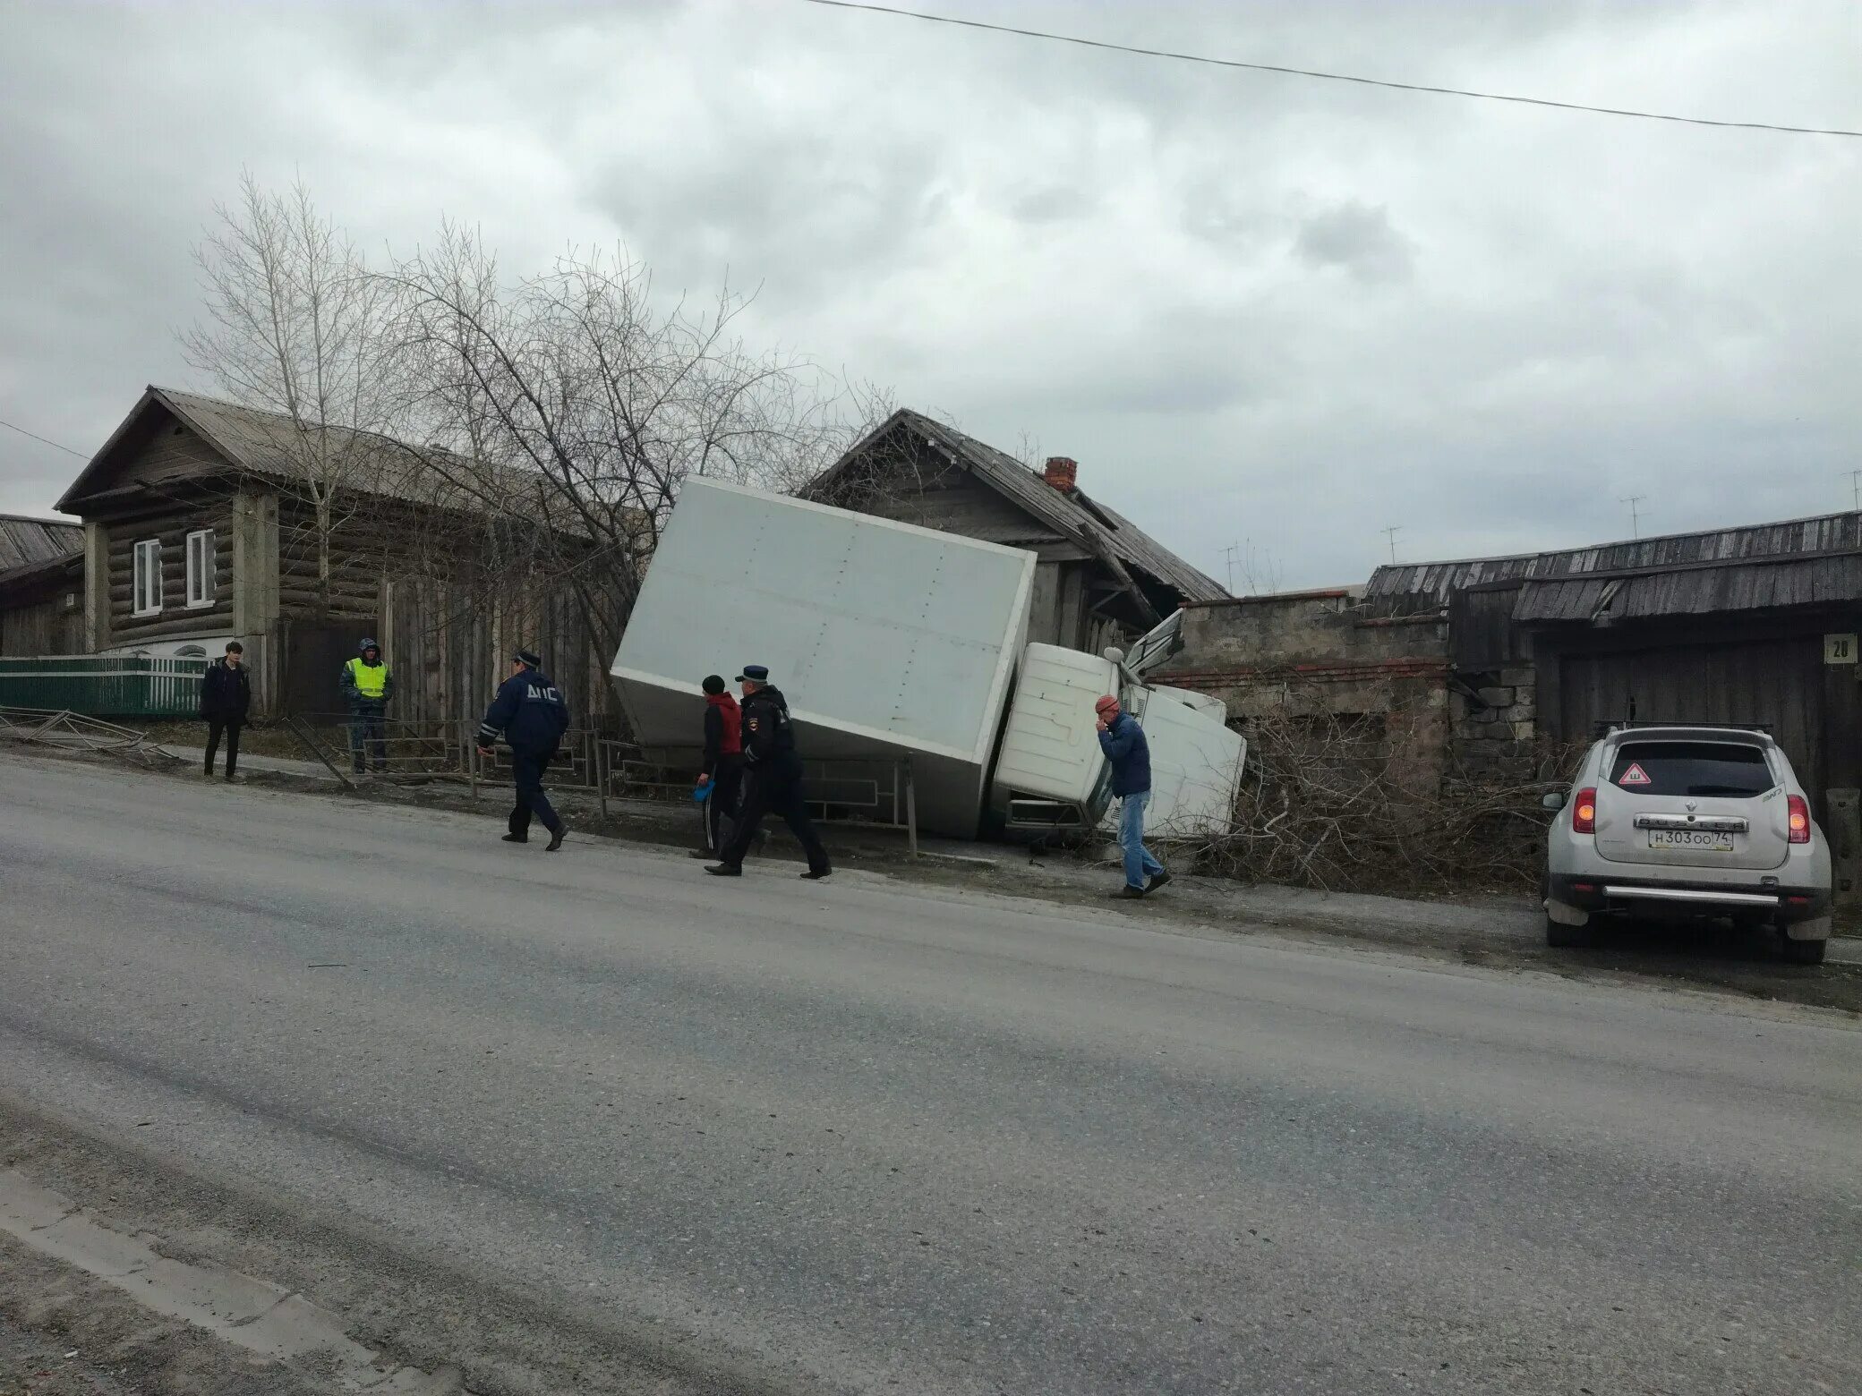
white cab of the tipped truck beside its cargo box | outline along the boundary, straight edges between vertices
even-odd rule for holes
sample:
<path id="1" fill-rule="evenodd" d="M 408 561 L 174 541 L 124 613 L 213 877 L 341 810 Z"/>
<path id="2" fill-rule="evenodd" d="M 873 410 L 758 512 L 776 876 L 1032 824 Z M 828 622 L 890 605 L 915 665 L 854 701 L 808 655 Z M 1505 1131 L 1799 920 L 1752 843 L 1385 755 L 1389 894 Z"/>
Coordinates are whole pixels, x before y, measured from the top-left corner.
<path id="1" fill-rule="evenodd" d="M 1022 653 L 989 795 L 1009 832 L 1087 830 L 1100 821 L 1110 784 L 1093 702 L 1117 685 L 1110 659 L 1056 644 Z"/>

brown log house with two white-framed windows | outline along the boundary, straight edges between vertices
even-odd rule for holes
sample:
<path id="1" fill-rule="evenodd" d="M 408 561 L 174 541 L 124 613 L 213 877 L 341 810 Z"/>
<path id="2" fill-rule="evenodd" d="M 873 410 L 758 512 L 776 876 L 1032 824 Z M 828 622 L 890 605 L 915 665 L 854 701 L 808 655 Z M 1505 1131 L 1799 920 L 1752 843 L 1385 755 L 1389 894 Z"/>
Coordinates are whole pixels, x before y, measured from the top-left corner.
<path id="1" fill-rule="evenodd" d="M 397 676 L 395 715 L 475 715 L 523 646 L 577 720 L 609 709 L 605 655 L 546 568 L 501 551 L 547 493 L 519 471 L 216 398 L 149 387 L 60 501 L 82 519 L 89 653 L 218 655 L 246 646 L 264 711 L 339 711 L 361 638 Z M 454 463 L 456 458 L 449 458 Z"/>

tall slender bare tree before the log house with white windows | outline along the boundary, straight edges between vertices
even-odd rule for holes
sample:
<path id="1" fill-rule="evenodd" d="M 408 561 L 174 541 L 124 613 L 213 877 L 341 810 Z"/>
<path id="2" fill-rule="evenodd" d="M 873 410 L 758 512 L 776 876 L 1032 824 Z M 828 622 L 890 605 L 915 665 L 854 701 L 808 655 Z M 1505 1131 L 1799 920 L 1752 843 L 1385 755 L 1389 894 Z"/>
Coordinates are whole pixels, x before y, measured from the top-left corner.
<path id="1" fill-rule="evenodd" d="M 384 469 L 385 287 L 302 181 L 274 194 L 244 171 L 238 201 L 214 214 L 194 248 L 207 318 L 181 337 L 182 354 L 235 402 L 289 423 L 274 443 L 290 477 L 283 499 L 302 504 L 287 540 L 311 536 L 328 611 L 344 562 L 335 536 L 356 508 L 356 486 Z"/>

